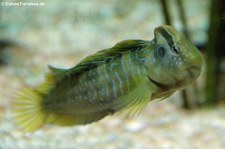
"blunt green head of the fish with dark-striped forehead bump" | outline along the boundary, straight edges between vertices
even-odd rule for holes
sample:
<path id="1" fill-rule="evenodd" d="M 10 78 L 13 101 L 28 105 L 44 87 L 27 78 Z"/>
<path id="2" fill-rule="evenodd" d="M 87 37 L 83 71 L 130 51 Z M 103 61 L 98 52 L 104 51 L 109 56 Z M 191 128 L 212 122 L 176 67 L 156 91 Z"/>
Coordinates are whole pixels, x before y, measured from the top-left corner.
<path id="1" fill-rule="evenodd" d="M 184 88 L 200 75 L 203 56 L 200 51 L 168 25 L 154 30 L 152 61 L 149 77 L 170 88 Z"/>

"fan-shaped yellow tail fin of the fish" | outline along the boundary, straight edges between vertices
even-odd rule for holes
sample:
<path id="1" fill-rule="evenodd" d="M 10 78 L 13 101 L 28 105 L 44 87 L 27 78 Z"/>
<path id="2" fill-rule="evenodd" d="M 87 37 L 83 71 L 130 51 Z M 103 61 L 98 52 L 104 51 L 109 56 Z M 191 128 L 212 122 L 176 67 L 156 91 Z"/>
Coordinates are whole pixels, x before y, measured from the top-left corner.
<path id="1" fill-rule="evenodd" d="M 41 108 L 42 100 L 41 94 L 31 88 L 23 89 L 16 98 L 15 119 L 24 131 L 35 131 L 44 124 L 46 115 Z"/>

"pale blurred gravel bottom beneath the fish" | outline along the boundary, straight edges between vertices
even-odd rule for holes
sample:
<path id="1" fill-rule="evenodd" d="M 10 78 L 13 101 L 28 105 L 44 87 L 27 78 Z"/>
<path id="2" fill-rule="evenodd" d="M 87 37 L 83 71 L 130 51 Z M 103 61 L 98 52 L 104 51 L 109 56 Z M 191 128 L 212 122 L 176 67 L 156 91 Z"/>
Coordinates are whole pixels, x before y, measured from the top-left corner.
<path id="1" fill-rule="evenodd" d="M 138 117 L 107 117 L 86 126 L 47 126 L 24 134 L 1 116 L 1 149 L 224 149 L 225 108 L 185 112 L 153 102 Z"/>

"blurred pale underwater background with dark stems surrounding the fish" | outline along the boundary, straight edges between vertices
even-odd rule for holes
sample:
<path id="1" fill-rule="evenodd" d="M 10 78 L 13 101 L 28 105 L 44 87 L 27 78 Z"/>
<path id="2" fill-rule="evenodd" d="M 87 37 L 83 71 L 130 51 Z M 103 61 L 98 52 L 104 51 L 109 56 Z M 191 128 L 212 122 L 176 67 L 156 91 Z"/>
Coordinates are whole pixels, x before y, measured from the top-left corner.
<path id="1" fill-rule="evenodd" d="M 1 0 L 0 149 L 225 148 L 225 2 L 223 0 Z M 109 116 L 85 126 L 23 133 L 12 101 L 37 86 L 48 65 L 70 68 L 126 39 L 152 40 L 170 24 L 205 57 L 198 81 L 134 118 Z"/>

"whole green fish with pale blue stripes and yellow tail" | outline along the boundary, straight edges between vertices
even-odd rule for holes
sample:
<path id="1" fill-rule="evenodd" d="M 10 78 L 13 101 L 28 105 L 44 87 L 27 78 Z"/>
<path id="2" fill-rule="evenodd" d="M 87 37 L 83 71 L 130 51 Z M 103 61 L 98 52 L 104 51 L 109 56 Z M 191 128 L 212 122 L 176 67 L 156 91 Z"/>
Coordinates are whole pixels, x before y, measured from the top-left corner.
<path id="1" fill-rule="evenodd" d="M 113 114 L 132 117 L 150 101 L 194 83 L 202 66 L 195 45 L 161 25 L 152 40 L 119 42 L 69 69 L 49 65 L 43 83 L 18 93 L 14 117 L 26 132 L 45 125 L 86 125 Z"/>

